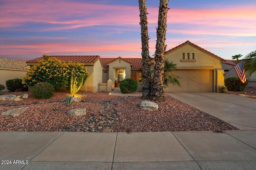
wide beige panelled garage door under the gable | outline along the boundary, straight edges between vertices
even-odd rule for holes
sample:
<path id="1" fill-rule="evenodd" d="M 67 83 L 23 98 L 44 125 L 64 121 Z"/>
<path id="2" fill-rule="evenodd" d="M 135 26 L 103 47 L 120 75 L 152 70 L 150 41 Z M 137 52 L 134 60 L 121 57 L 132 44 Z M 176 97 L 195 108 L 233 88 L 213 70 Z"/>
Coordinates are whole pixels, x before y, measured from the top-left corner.
<path id="1" fill-rule="evenodd" d="M 213 92 L 213 70 L 177 70 L 174 74 L 180 76 L 179 86 L 169 85 L 165 92 Z"/>

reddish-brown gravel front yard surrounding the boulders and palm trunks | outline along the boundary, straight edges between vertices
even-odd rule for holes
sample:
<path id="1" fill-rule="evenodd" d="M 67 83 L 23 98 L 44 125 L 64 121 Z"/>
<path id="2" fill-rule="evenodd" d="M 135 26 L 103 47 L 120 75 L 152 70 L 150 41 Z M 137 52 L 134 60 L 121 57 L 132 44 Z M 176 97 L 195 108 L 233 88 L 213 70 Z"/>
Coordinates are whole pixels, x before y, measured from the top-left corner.
<path id="1" fill-rule="evenodd" d="M 236 127 L 170 96 L 158 103 L 158 111 L 140 109 L 140 97 L 120 97 L 105 92 L 78 93 L 83 102 L 66 106 L 68 93 L 56 92 L 51 99 L 38 100 L 30 92 L 23 101 L 0 101 L 0 113 L 19 107 L 28 109 L 18 117 L 0 115 L 0 131 L 83 131 L 83 132 L 156 132 L 238 130 Z M 35 104 L 36 102 L 43 102 Z M 6 106 L 7 105 L 7 106 Z M 12 106 L 16 105 L 16 106 Z M 86 115 L 67 114 L 74 108 L 86 108 Z"/>

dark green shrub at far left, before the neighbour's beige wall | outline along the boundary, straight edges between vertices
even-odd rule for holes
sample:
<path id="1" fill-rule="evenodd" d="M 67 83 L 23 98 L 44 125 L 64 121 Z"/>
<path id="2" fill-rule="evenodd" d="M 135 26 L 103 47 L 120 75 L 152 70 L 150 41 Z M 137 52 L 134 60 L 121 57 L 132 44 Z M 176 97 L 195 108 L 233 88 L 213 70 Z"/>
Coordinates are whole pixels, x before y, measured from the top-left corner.
<path id="1" fill-rule="evenodd" d="M 10 92 L 25 92 L 28 91 L 28 87 L 24 87 L 20 78 L 14 78 L 6 80 L 5 82 L 7 89 Z"/>

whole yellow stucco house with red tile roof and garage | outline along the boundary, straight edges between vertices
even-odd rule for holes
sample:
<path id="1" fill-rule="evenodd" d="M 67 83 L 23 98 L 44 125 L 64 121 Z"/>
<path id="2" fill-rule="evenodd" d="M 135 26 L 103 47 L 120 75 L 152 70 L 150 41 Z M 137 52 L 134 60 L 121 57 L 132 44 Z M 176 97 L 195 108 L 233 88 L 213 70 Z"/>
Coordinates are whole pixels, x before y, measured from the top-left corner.
<path id="1" fill-rule="evenodd" d="M 205 49 L 186 41 L 177 47 L 166 51 L 166 59 L 177 64 L 177 72 L 181 77 L 181 87 L 168 86 L 166 92 L 218 92 L 224 85 L 224 70 L 222 63 L 225 60 L 206 51 Z M 136 81 L 142 79 L 142 58 L 100 58 L 98 55 L 83 56 L 50 56 L 62 61 L 80 62 L 88 68 L 89 78 L 80 90 L 87 92 L 107 91 L 108 80 L 119 83 L 125 78 Z M 42 57 L 30 60 L 27 65 L 36 64 Z M 151 70 L 154 69 L 154 59 Z M 138 90 L 142 90 L 139 83 Z"/>

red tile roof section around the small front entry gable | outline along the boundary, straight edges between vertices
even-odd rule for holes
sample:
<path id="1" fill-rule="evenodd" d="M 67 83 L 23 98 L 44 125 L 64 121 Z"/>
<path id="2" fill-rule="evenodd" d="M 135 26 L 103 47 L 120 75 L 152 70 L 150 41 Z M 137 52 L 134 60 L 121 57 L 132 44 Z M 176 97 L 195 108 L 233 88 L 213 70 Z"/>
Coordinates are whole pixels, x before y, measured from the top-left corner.
<path id="1" fill-rule="evenodd" d="M 108 68 L 108 64 L 117 60 L 117 59 L 122 59 L 132 65 L 132 68 L 137 68 L 140 69 L 142 68 L 142 58 L 100 58 L 100 61 L 102 63 L 103 68 Z"/>

